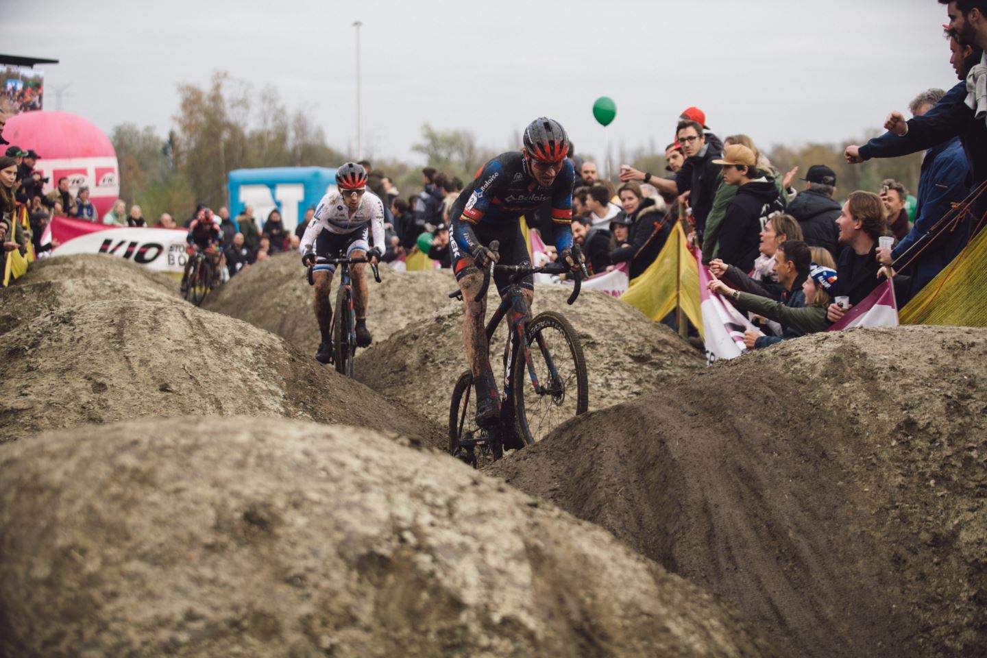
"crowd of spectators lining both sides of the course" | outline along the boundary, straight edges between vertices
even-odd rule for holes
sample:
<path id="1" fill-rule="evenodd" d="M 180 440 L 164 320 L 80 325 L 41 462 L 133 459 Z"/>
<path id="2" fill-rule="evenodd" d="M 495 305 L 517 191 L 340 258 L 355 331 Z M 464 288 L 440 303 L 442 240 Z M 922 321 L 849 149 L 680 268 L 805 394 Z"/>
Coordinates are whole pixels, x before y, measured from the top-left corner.
<path id="1" fill-rule="evenodd" d="M 838 321 L 873 291 L 879 272 L 894 275 L 899 306 L 907 303 L 959 254 L 987 211 L 987 93 L 982 93 L 987 88 L 987 0 L 939 1 L 949 6 L 949 61 L 959 83 L 948 92 L 920 93 L 909 106 L 911 119 L 892 111 L 885 119 L 886 134 L 845 152 L 847 161 L 856 164 L 925 151 L 913 212 L 907 207 L 909 190 L 894 180 L 875 190 L 841 190 L 830 167 L 811 162 L 783 175 L 751 137 L 721 139 L 706 114 L 692 107 L 669 122 L 672 141 L 665 149 L 666 171 L 660 174 L 623 165 L 616 186 L 600 177 L 595 163 L 570 149 L 576 172 L 572 233 L 590 273 L 626 267 L 635 279 L 682 222 L 717 277 L 711 285 L 748 311 L 764 332 L 748 336 L 751 347 Z M 138 205 L 128 210 L 122 200 L 97 217 L 88 190 L 82 187 L 74 196 L 64 179 L 42 195 L 46 181 L 35 170 L 37 158 L 34 151 L 11 146 L 2 160 L 7 165 L 0 168 L 5 217 L 18 203 L 30 208 L 30 226 L 19 229 L 9 219 L 0 223 L 3 250 L 37 241 L 52 214 L 107 225 L 148 224 Z M 448 266 L 448 214 L 463 182 L 426 167 L 421 191 L 402 197 L 386 174 L 369 162 L 360 164 L 369 172 L 371 191 L 384 203 L 383 259 L 418 250 Z M 802 167 L 804 184 L 797 189 Z M 291 232 L 277 209 L 267 214 L 262 230 L 253 207 L 236 219 L 220 208 L 229 274 L 297 250 L 313 212 L 309 208 Z M 552 230 L 548 213 L 536 211 L 527 220 L 535 232 Z M 157 225 L 175 223 L 166 213 Z M 884 237 L 891 238 L 890 248 L 880 246 Z M 552 244 L 548 238 L 543 242 Z M 36 249 L 43 251 L 37 242 Z M 837 298 L 849 302 L 833 303 Z"/>

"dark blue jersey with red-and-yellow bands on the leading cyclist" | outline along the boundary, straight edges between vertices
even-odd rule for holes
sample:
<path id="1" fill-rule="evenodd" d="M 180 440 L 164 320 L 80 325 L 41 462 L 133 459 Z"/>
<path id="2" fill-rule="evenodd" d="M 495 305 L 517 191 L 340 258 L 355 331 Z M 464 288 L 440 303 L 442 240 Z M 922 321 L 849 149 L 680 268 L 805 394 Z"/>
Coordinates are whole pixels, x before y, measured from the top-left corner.
<path id="1" fill-rule="evenodd" d="M 539 184 L 524 161 L 522 151 L 508 151 L 493 158 L 480 176 L 466 186 L 449 211 L 453 239 L 465 254 L 479 243 L 474 227 L 516 224 L 521 215 L 551 202 L 556 249 L 572 246 L 572 182 L 575 171 L 568 159 L 549 187 Z"/>

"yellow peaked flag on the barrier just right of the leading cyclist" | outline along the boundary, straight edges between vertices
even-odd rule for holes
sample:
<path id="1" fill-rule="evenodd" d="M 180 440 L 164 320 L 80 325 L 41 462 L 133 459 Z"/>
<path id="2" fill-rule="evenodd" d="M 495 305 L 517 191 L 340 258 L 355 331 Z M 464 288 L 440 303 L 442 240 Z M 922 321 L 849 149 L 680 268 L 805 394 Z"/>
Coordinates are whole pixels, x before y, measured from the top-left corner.
<path id="1" fill-rule="evenodd" d="M 641 276 L 631 281 L 620 299 L 655 322 L 663 320 L 675 310 L 676 304 L 680 304 L 693 326 L 703 332 L 699 267 L 696 257 L 689 252 L 688 240 L 679 222 L 675 222 L 658 257 Z"/>

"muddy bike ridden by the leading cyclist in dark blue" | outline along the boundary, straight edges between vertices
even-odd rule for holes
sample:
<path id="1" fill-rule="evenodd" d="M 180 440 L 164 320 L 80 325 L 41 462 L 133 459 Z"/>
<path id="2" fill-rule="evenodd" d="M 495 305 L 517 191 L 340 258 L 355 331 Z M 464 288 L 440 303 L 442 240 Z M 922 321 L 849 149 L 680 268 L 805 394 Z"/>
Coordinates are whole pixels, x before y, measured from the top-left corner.
<path id="1" fill-rule="evenodd" d="M 499 245 L 491 243 L 491 251 Z M 573 256 L 580 257 L 578 247 Z M 572 304 L 579 296 L 582 272 L 574 277 L 575 287 L 569 296 Z M 531 445 L 547 436 L 563 422 L 586 411 L 589 396 L 586 384 L 586 361 L 575 329 L 565 316 L 554 311 L 540 313 L 534 318 L 528 309 L 519 281 L 528 274 L 569 273 L 565 263 L 549 263 L 541 267 L 531 265 L 498 265 L 493 262 L 484 270 L 483 287 L 474 301 L 487 296 L 494 272 L 513 274 L 500 298 L 500 305 L 487 324 L 487 342 L 491 343 L 500 321 L 508 319 L 508 336 L 503 353 L 503 390 L 501 408 L 513 406 L 514 428 L 505 427 L 511 422 L 509 413 L 501 413 L 500 422 L 493 427 L 480 427 L 476 423 L 476 400 L 473 374 L 464 372 L 452 392 L 449 407 L 449 452 L 474 468 L 480 454 L 493 460 L 503 456 L 505 430 L 515 429 L 525 445 Z M 461 290 L 449 293 L 450 298 L 463 298 Z M 530 386 L 525 382 L 525 373 Z"/>

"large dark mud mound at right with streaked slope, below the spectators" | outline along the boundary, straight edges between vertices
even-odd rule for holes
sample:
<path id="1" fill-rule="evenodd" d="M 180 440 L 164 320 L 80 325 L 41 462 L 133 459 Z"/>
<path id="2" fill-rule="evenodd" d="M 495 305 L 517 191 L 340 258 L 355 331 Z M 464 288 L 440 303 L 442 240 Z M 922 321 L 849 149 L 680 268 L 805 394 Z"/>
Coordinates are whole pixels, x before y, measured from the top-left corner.
<path id="1" fill-rule="evenodd" d="M 817 334 L 493 473 L 709 587 L 788 655 L 987 655 L 985 364 L 985 329 Z"/>

